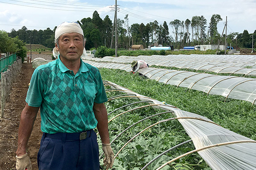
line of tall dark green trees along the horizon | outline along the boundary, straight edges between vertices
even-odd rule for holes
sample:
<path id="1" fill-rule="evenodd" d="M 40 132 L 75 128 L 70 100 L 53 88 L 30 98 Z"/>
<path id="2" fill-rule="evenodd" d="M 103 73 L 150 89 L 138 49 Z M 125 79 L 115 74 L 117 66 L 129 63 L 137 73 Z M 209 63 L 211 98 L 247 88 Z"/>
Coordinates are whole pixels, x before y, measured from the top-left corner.
<path id="1" fill-rule="evenodd" d="M 209 26 L 204 16 L 193 16 L 191 20 L 185 21 L 173 20 L 169 23 L 172 30 L 169 30 L 168 23 L 164 21 L 163 25 L 157 21 L 147 23 L 129 24 L 128 14 L 125 18 L 117 19 L 117 35 L 118 35 L 118 48 L 128 49 L 131 45 L 142 44 L 144 47 L 153 45 L 154 43 L 166 45 L 174 45 L 175 48 L 183 48 L 183 46 L 194 46 L 202 44 L 218 44 L 224 45 L 224 37 L 218 32 L 218 24 L 222 21 L 219 14 L 213 14 Z M 103 20 L 99 17 L 97 11 L 94 11 L 93 17 L 83 18 L 77 21 L 84 31 L 86 38 L 85 48 L 97 48 L 104 45 L 108 48 L 114 47 L 115 30 L 113 30 L 113 22 L 107 15 Z M 224 27 L 224 25 L 223 25 Z M 47 28 L 45 30 L 28 30 L 23 26 L 19 30 L 12 29 L 8 33 L 9 37 L 18 37 L 25 43 L 41 44 L 48 48 L 53 48 L 54 32 Z M 170 35 L 172 31 L 174 37 Z M 249 34 L 247 30 L 243 33 L 232 32 L 227 34 L 227 43 L 232 44 L 235 48 L 252 48 L 252 35 L 254 35 L 253 43 L 256 43 L 256 30 L 253 34 Z M 113 37 L 113 39 L 112 39 Z M 112 40 L 112 41 L 111 41 Z M 112 44 L 112 45 L 111 45 Z M 256 45 L 256 44 L 255 44 Z"/>

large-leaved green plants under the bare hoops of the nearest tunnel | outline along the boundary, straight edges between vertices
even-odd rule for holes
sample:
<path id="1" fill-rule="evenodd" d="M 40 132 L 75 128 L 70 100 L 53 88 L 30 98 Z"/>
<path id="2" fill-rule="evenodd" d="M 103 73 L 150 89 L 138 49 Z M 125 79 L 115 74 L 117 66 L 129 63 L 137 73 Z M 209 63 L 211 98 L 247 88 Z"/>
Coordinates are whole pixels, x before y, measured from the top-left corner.
<path id="1" fill-rule="evenodd" d="M 106 86 L 106 89 L 109 87 Z M 122 92 L 107 92 L 108 97 L 113 97 L 123 94 Z M 138 102 L 136 98 L 119 98 L 113 99 L 109 102 L 106 102 L 106 108 L 108 113 L 115 110 L 116 108 L 120 108 L 124 105 L 131 104 L 134 102 Z M 133 108 L 141 107 L 143 105 L 148 105 L 148 103 L 138 103 L 134 105 L 127 106 L 118 111 L 113 112 L 108 116 L 109 120 L 111 120 L 116 115 L 123 113 L 125 111 L 129 111 Z M 160 109 L 146 107 L 140 108 L 128 113 L 124 113 L 121 116 L 116 117 L 113 121 L 109 122 L 109 131 L 111 141 L 125 128 L 133 125 L 135 122 L 138 122 L 145 117 L 154 115 L 156 113 L 165 112 Z M 112 148 L 114 153 L 117 153 L 120 148 L 133 136 L 137 133 L 145 129 L 146 127 L 153 125 L 154 123 L 169 119 L 174 117 L 172 113 L 165 113 L 151 119 L 147 119 L 131 129 L 127 130 L 122 136 L 120 136 L 115 142 L 112 144 Z M 149 161 L 151 161 L 154 157 L 163 153 L 165 150 L 168 150 L 171 147 L 180 144 L 181 142 L 185 142 L 189 140 L 189 136 L 186 135 L 185 130 L 180 125 L 177 120 L 172 120 L 169 122 L 163 122 L 150 129 L 143 132 L 140 136 L 135 138 L 131 143 L 129 143 L 116 157 L 113 169 L 114 170 L 140 170 L 145 166 Z M 99 141 L 100 142 L 100 141 Z M 176 150 L 170 151 L 166 153 L 166 155 L 154 161 L 150 166 L 147 167 L 147 170 L 155 170 L 157 167 L 160 167 L 162 164 L 166 163 L 171 159 L 174 159 L 177 156 L 182 155 L 183 153 L 194 150 L 195 147 L 191 143 L 185 144 L 181 147 L 178 147 Z M 189 156 L 183 157 L 182 159 L 173 162 L 169 167 L 165 167 L 165 169 L 174 169 L 174 167 L 179 166 L 182 167 L 182 170 L 210 170 L 208 165 L 201 159 L 201 157 L 197 154 L 191 154 Z M 186 168 L 186 169 L 185 169 Z"/>

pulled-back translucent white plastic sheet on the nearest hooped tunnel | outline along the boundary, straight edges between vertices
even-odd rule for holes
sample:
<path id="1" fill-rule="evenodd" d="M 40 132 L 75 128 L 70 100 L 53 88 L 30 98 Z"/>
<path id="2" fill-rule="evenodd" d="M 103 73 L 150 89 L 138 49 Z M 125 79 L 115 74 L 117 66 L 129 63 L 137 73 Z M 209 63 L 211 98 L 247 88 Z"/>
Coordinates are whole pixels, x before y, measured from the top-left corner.
<path id="1" fill-rule="evenodd" d="M 111 84 L 111 88 L 125 90 L 123 91 L 124 93 L 133 94 L 140 97 L 142 96 L 114 83 L 108 82 L 108 85 L 109 84 Z M 148 100 L 148 98 L 139 99 Z M 151 101 L 154 102 L 154 104 L 161 103 L 160 101 L 154 99 L 151 99 Z M 198 150 L 203 147 L 209 147 L 213 144 L 223 144 L 225 142 L 231 142 L 231 144 L 210 147 L 198 151 L 200 156 L 207 162 L 212 170 L 256 169 L 256 141 L 241 136 L 221 126 L 215 125 L 214 123 L 211 123 L 212 121 L 210 119 L 207 119 L 204 116 L 163 105 L 154 107 L 163 109 L 165 111 L 173 111 L 177 117 L 185 118 L 177 120 L 184 127 L 187 134 L 192 139 L 195 148 Z M 200 118 L 205 121 L 191 118 Z"/>

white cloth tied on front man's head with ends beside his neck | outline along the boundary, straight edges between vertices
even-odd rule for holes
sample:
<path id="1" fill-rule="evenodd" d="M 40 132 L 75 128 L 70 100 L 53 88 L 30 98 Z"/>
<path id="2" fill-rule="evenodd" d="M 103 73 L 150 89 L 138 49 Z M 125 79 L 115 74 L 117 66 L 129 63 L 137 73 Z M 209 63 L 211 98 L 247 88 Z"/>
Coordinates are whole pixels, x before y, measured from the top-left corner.
<path id="1" fill-rule="evenodd" d="M 77 22 L 64 22 L 59 25 L 55 30 L 55 41 L 65 33 L 78 33 L 84 37 L 84 32 Z M 53 57 L 57 58 L 59 51 L 56 48 L 52 50 Z M 87 56 L 85 48 L 81 57 Z"/>

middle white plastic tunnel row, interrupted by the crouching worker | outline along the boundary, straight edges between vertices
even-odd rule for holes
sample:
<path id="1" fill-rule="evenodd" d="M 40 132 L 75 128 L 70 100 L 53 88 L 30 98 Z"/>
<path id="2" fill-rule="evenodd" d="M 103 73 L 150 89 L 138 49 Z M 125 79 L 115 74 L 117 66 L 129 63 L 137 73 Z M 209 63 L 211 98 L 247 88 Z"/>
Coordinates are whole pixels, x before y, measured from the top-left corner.
<path id="1" fill-rule="evenodd" d="M 131 71 L 130 65 L 92 62 L 88 60 L 86 62 L 97 68 Z M 149 79 L 154 79 L 165 84 L 203 91 L 207 94 L 221 95 L 226 97 L 226 99 L 239 99 L 256 104 L 256 79 L 166 70 L 163 68 L 143 68 L 139 70 L 139 73 Z"/>

